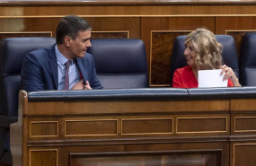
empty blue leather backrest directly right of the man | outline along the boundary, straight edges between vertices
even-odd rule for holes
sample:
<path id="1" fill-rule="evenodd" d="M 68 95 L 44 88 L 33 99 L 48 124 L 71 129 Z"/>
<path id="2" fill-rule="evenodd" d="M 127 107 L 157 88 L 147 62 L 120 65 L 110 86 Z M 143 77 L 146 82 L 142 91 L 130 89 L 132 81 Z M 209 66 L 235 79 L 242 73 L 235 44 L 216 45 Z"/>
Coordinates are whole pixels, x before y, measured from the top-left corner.
<path id="1" fill-rule="evenodd" d="M 146 50 L 141 39 L 92 39 L 92 54 L 102 86 L 146 88 L 148 72 Z"/>

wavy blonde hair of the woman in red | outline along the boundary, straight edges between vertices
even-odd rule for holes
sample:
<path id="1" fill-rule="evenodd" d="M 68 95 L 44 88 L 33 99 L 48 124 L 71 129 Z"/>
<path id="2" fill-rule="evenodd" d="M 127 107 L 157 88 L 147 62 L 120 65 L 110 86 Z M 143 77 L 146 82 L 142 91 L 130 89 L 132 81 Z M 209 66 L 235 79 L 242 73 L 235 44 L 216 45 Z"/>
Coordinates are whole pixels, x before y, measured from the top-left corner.
<path id="1" fill-rule="evenodd" d="M 185 40 L 185 45 L 191 41 L 197 57 L 195 65 L 200 70 L 218 69 L 222 66 L 222 44 L 217 42 L 213 32 L 207 29 L 192 31 Z"/>

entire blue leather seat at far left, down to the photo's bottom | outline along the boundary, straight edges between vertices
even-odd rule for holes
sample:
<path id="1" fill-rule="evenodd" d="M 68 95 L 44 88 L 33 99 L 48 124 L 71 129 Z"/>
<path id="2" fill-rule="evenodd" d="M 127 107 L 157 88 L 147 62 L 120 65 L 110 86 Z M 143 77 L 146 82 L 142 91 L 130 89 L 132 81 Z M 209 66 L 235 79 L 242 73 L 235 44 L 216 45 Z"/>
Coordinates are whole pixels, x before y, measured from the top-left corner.
<path id="1" fill-rule="evenodd" d="M 0 163 L 12 165 L 10 124 L 17 120 L 23 57 L 37 48 L 47 48 L 53 38 L 8 38 L 0 46 Z"/>

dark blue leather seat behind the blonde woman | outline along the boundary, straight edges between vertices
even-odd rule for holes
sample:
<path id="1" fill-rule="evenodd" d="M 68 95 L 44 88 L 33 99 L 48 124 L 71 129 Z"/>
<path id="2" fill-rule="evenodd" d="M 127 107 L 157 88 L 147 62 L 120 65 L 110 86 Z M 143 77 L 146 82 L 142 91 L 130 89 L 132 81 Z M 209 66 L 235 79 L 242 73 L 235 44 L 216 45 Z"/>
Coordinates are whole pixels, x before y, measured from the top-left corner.
<path id="1" fill-rule="evenodd" d="M 171 57 L 171 85 L 172 77 L 176 69 L 187 66 L 186 58 L 184 57 L 186 35 L 178 36 L 173 43 Z M 216 39 L 223 45 L 222 57 L 224 64 L 234 70 L 234 74 L 239 78 L 238 60 L 234 38 L 229 35 L 216 35 Z"/>

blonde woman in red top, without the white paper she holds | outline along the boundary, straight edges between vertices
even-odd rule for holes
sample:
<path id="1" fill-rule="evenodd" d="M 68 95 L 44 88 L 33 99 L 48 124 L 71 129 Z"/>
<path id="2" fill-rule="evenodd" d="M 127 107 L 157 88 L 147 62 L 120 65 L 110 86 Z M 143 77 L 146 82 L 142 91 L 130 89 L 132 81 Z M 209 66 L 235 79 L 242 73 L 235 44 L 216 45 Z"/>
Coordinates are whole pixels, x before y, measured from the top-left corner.
<path id="1" fill-rule="evenodd" d="M 228 79 L 227 86 L 241 86 L 231 67 L 222 66 L 222 45 L 213 32 L 207 29 L 192 31 L 185 39 L 184 56 L 188 66 L 179 68 L 173 74 L 172 87 L 197 88 L 199 70 L 223 69 L 221 74 Z"/>

